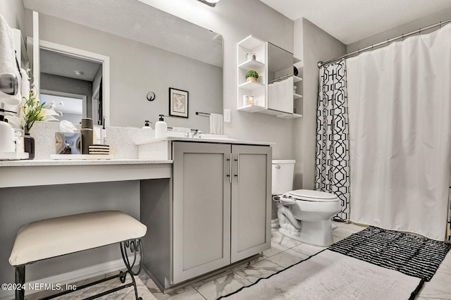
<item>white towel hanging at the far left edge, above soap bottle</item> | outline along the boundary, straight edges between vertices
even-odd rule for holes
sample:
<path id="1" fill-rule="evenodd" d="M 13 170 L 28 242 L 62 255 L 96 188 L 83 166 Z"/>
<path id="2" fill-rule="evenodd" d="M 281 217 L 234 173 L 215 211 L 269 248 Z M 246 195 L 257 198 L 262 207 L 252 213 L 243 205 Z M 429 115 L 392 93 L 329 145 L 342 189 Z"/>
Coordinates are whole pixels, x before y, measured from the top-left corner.
<path id="1" fill-rule="evenodd" d="M 0 74 L 1 73 L 16 74 L 20 80 L 20 73 L 16 65 L 16 54 L 14 52 L 13 30 L 11 30 L 11 27 L 6 23 L 3 15 L 0 15 Z M 13 98 L 20 99 L 20 93 L 18 94 L 19 95 L 13 96 Z"/>

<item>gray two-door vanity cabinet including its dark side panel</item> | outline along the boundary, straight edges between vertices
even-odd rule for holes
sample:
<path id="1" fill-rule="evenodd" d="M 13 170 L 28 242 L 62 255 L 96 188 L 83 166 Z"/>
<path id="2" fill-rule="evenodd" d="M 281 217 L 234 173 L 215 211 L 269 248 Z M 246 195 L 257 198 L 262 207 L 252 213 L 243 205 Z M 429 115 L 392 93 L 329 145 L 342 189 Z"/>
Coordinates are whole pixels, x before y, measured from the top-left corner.
<path id="1" fill-rule="evenodd" d="M 161 142 L 171 147 L 171 185 L 141 182 L 140 209 L 144 266 L 161 289 L 271 248 L 269 143 Z"/>

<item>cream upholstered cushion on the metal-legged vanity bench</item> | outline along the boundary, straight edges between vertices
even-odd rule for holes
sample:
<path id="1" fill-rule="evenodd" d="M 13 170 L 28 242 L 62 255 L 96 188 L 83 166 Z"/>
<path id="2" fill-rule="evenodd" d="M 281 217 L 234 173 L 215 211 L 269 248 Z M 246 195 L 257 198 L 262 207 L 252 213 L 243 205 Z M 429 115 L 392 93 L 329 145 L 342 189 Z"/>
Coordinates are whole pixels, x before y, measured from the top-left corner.
<path id="1" fill-rule="evenodd" d="M 23 265 L 144 237 L 146 225 L 121 211 L 96 211 L 39 220 L 23 226 L 9 257 Z"/>

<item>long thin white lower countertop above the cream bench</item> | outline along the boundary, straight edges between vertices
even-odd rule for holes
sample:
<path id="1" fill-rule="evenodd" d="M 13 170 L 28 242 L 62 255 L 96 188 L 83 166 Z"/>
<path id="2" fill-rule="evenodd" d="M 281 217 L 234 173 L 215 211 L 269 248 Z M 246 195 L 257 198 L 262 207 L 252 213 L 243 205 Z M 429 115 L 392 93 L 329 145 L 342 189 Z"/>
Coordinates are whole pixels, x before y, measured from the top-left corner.
<path id="1" fill-rule="evenodd" d="M 171 160 L 145 159 L 39 159 L 22 161 L 0 161 L 0 167 L 27 167 L 42 165 L 137 165 L 137 164 L 173 163 Z"/>

